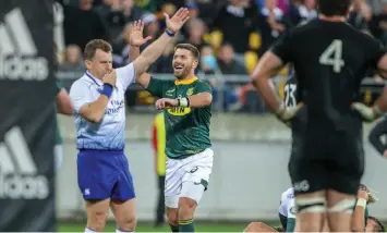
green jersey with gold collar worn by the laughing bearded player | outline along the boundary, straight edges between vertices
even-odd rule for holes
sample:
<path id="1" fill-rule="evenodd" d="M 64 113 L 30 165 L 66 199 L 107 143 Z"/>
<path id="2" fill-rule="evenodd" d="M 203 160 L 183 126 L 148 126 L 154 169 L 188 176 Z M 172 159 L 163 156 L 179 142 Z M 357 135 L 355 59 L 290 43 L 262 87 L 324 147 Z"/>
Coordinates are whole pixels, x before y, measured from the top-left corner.
<path id="1" fill-rule="evenodd" d="M 184 81 L 166 81 L 150 77 L 146 88 L 159 98 L 176 99 L 199 93 L 211 94 L 211 87 L 197 77 Z M 211 146 L 209 124 L 211 105 L 204 108 L 173 107 L 165 109 L 166 155 L 172 159 L 183 159 Z"/>

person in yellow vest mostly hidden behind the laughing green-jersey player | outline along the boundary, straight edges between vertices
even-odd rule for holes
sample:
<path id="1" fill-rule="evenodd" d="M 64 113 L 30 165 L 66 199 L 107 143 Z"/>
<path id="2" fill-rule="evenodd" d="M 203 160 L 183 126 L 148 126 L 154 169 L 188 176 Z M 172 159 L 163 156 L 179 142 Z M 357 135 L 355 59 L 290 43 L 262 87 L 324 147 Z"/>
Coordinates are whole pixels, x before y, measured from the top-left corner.
<path id="1" fill-rule="evenodd" d="M 155 226 L 161 226 L 165 222 L 165 197 L 164 187 L 166 183 L 166 125 L 164 123 L 164 112 L 155 116 L 153 123 L 152 144 L 155 151 L 155 170 L 157 174 L 157 208 Z"/>

